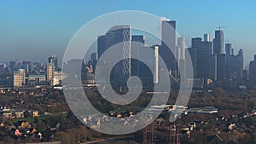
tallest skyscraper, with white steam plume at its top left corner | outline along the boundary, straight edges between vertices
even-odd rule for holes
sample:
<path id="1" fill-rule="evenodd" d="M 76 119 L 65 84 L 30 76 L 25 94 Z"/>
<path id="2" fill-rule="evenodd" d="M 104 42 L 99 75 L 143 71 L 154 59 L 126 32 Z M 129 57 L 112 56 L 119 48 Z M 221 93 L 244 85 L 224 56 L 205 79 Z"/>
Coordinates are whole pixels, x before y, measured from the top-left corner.
<path id="1" fill-rule="evenodd" d="M 176 48 L 176 21 L 162 20 L 162 42 L 160 47 L 160 56 L 166 63 L 168 70 L 171 70 L 174 77 L 177 76 L 177 55 Z M 172 49 L 172 51 L 170 50 Z"/>

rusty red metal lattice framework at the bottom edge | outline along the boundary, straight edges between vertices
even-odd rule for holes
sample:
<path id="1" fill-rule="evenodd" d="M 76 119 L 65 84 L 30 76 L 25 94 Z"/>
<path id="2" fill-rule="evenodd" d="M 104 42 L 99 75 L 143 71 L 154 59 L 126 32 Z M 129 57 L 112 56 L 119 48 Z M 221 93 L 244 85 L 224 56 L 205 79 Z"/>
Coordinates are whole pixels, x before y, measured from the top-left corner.
<path id="1" fill-rule="evenodd" d="M 154 121 L 143 130 L 143 144 L 180 144 L 180 124 Z"/>

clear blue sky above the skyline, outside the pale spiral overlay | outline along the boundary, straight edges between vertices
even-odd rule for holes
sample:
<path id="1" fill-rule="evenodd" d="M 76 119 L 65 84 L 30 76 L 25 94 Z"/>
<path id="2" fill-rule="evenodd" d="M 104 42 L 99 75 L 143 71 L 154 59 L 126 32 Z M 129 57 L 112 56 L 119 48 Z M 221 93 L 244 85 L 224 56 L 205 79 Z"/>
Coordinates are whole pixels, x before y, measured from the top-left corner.
<path id="1" fill-rule="evenodd" d="M 23 0 L 0 1 L 0 61 L 46 61 L 64 54 L 73 34 L 90 20 L 117 10 L 141 10 L 177 20 L 177 32 L 190 43 L 218 26 L 245 61 L 256 55 L 256 1 L 214 0 Z"/>

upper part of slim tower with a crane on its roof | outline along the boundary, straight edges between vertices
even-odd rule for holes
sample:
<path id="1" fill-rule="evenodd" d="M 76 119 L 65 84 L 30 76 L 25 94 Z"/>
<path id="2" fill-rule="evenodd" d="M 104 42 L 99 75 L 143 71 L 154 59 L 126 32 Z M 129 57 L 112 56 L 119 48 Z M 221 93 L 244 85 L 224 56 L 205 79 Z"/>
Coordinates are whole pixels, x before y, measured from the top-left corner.
<path id="1" fill-rule="evenodd" d="M 224 54 L 224 32 L 221 30 L 215 31 L 215 38 L 213 39 L 213 53 Z"/>

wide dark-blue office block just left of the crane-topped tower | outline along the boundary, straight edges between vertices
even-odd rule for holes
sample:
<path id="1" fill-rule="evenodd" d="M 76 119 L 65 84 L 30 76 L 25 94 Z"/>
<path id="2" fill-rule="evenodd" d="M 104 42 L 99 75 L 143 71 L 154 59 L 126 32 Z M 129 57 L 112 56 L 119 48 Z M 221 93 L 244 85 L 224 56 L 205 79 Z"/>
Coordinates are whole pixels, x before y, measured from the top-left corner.
<path id="1" fill-rule="evenodd" d="M 212 55 L 212 42 L 202 41 L 201 37 L 192 38 L 192 48 L 195 49 L 196 78 L 210 77 L 210 61 Z"/>

